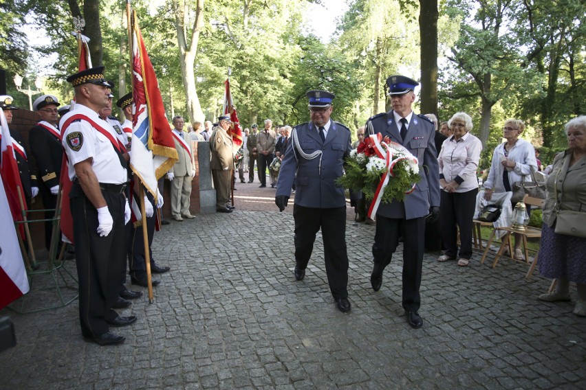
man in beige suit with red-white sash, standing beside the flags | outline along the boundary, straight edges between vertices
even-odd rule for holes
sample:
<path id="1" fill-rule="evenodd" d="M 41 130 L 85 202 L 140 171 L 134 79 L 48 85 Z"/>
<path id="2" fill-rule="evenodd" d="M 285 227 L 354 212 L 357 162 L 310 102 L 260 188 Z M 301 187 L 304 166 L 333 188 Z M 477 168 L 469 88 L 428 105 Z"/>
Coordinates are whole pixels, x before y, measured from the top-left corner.
<path id="1" fill-rule="evenodd" d="M 195 176 L 195 163 L 193 162 L 193 150 L 191 139 L 184 133 L 185 121 L 177 115 L 173 118 L 173 141 L 179 160 L 167 173 L 171 181 L 171 214 L 173 219 L 182 221 L 183 218 L 195 218 L 189 212 L 189 198 L 191 196 L 191 179 Z M 183 217 L 183 218 L 182 218 Z"/>

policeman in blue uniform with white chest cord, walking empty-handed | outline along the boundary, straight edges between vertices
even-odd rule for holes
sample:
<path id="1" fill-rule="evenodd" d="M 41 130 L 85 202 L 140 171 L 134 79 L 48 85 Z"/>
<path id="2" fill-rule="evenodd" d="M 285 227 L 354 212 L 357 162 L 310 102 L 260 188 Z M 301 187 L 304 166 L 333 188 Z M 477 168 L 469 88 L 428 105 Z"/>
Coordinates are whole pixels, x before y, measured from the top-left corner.
<path id="1" fill-rule="evenodd" d="M 321 228 L 329 289 L 338 310 L 349 312 L 346 199 L 336 179 L 342 176 L 344 159 L 351 150 L 350 130 L 329 118 L 333 93 L 310 91 L 306 95 L 312 120 L 292 131 L 281 163 L 275 203 L 283 211 L 296 185 L 295 279 L 305 277 L 316 233 Z"/>

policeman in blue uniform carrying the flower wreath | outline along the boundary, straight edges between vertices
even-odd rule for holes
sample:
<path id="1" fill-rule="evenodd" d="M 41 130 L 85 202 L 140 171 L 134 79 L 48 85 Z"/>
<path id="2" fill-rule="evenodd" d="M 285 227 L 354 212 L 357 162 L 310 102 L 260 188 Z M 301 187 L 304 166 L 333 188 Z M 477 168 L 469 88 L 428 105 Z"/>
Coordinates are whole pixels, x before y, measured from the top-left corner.
<path id="1" fill-rule="evenodd" d="M 409 150 L 420 164 L 421 180 L 404 201 L 381 204 L 376 213 L 376 233 L 372 253 L 374 266 L 371 274 L 373 290 L 382 285 L 382 272 L 391 262 L 399 237 L 403 237 L 403 299 L 407 322 L 421 328 L 420 285 L 424 253 L 426 217 L 439 216 L 439 168 L 435 152 L 433 122 L 424 115 L 415 115 L 411 106 L 415 101 L 414 89 L 418 82 L 404 76 L 387 79 L 393 109 L 371 117 L 366 124 L 367 136 L 381 133 L 391 141 Z"/>

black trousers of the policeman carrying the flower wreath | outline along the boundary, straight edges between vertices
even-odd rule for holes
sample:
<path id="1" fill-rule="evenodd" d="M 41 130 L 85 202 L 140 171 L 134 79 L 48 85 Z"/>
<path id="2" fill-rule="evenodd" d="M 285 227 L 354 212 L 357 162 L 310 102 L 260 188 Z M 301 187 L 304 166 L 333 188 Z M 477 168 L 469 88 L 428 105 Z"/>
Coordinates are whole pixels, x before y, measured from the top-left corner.
<path id="1" fill-rule="evenodd" d="M 373 255 L 375 262 L 391 262 L 403 237 L 403 301 L 405 310 L 417 311 L 421 306 L 419 288 L 425 242 L 425 217 L 405 220 L 376 216 Z"/>

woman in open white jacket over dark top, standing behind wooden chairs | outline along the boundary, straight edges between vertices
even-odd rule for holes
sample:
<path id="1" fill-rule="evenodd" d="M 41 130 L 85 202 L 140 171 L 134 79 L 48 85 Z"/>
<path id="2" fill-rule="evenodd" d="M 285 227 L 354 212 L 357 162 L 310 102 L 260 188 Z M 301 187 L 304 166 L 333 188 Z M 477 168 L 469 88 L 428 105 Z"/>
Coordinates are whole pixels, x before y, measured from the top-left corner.
<path id="1" fill-rule="evenodd" d="M 520 119 L 507 119 L 503 126 L 503 138 L 506 142 L 500 144 L 492 153 L 492 163 L 488 178 L 484 182 L 484 198 L 490 200 L 493 192 L 512 191 L 514 183 L 525 180 L 525 176 L 531 177 L 537 170 L 535 149 L 529 141 L 520 139 L 519 136 L 525 130 L 525 124 Z M 517 201 L 512 201 L 512 208 Z M 530 208 L 527 207 L 527 211 Z M 521 251 L 522 238 L 520 234 L 514 234 L 515 260 L 525 260 Z"/>

